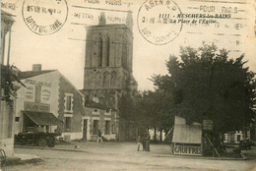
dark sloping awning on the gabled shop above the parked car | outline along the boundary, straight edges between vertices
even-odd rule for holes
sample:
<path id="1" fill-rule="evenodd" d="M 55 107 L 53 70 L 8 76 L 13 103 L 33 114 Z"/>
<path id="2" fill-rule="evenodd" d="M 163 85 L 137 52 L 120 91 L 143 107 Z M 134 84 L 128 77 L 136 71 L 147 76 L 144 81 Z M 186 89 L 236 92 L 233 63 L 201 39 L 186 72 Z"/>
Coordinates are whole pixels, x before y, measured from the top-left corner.
<path id="1" fill-rule="evenodd" d="M 24 111 L 24 114 L 36 125 L 57 126 L 62 124 L 52 113 Z"/>

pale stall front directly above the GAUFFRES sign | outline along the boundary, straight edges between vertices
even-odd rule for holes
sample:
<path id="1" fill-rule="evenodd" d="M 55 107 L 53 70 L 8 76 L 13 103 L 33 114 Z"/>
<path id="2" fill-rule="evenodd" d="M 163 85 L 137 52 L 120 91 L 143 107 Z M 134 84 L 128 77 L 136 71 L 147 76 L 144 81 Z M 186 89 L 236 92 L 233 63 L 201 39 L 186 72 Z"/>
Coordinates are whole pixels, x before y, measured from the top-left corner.
<path id="1" fill-rule="evenodd" d="M 186 120 L 184 118 L 175 116 L 172 142 L 201 143 L 201 124 L 193 122 L 192 124 L 187 125 Z"/>

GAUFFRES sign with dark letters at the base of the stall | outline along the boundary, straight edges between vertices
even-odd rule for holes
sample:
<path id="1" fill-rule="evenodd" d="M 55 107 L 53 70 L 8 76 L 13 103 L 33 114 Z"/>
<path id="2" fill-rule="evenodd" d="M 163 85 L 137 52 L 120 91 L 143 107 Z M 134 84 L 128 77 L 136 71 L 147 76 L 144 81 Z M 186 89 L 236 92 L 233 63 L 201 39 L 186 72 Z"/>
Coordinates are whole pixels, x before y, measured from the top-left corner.
<path id="1" fill-rule="evenodd" d="M 174 154 L 179 155 L 202 155 L 201 146 L 174 145 Z"/>

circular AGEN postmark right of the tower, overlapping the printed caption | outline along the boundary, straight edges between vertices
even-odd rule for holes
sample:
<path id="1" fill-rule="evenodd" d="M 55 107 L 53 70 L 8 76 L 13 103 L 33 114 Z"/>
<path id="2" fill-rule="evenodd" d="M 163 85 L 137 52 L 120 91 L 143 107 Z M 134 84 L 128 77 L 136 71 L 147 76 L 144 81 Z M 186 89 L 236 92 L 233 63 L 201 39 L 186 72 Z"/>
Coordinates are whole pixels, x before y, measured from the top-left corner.
<path id="1" fill-rule="evenodd" d="M 181 31 L 181 14 L 172 0 L 147 0 L 139 9 L 137 25 L 147 41 L 163 45 L 175 39 Z"/>

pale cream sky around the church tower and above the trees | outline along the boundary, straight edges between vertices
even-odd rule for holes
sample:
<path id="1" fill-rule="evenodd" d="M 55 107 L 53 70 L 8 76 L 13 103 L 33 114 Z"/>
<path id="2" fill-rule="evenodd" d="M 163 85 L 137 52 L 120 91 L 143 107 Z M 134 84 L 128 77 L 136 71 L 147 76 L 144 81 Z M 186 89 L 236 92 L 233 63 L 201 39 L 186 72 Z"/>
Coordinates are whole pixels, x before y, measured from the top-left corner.
<path id="1" fill-rule="evenodd" d="M 21 71 L 32 70 L 32 64 L 41 64 L 43 70 L 59 70 L 73 85 L 83 88 L 84 65 L 86 52 L 86 27 L 97 25 L 100 12 L 106 16 L 106 24 L 125 24 L 127 11 L 133 16 L 133 75 L 139 89 L 153 89 L 149 80 L 154 74 L 167 74 L 165 61 L 170 54 L 179 54 L 180 46 L 199 47 L 203 41 L 215 42 L 220 48 L 230 50 L 230 57 L 236 58 L 245 53 L 245 59 L 250 70 L 256 72 L 255 57 L 255 4 L 253 1 L 228 1 L 229 3 L 202 2 L 201 0 L 171 1 L 172 7 L 177 7 L 182 14 L 230 15 L 228 19 L 215 19 L 215 24 L 151 25 L 143 24 L 142 17 L 158 17 L 168 13 L 166 6 L 159 3 L 150 6 L 149 1 L 124 0 L 66 0 L 67 18 L 65 24 L 57 31 L 39 35 L 25 23 L 23 7 L 42 0 L 2 0 L 2 10 L 14 16 L 15 24 L 11 36 L 11 64 Z M 53 0 L 45 0 L 48 2 Z M 63 3 L 62 0 L 61 3 Z M 159 1 L 157 1 L 159 2 Z M 245 2 L 245 1 L 244 1 Z M 55 3 L 55 2 L 54 2 Z M 53 3 L 53 4 L 54 4 Z M 150 9 L 146 9 L 148 3 Z M 165 0 L 163 0 L 165 3 Z M 46 4 L 47 6 L 47 4 Z M 62 15 L 65 15 L 65 8 Z M 174 14 L 174 12 L 172 13 Z M 177 14 L 174 14 L 177 15 Z M 52 18 L 32 14 L 34 20 L 41 25 L 52 22 Z M 49 17 L 49 16 L 47 16 Z M 64 17 L 60 20 L 63 20 Z M 174 18 L 173 18 L 174 19 Z M 175 18 L 176 19 L 176 18 Z M 53 20 L 54 21 L 54 20 Z M 202 21 L 201 21 L 202 22 Z M 150 36 L 143 34 L 143 28 L 148 27 L 152 34 L 165 35 L 169 30 L 177 32 L 166 39 L 165 44 L 158 44 Z"/>

